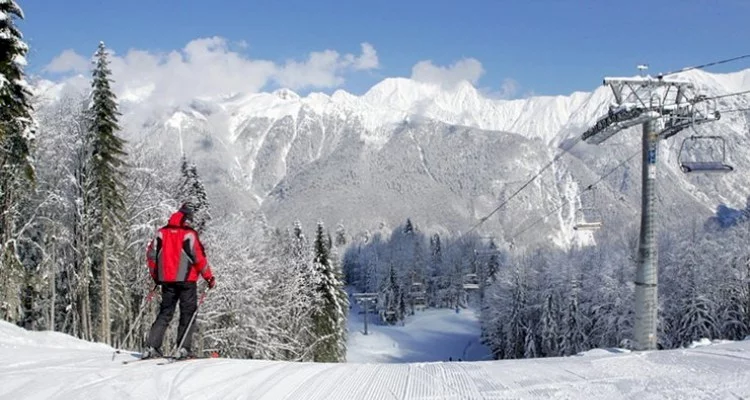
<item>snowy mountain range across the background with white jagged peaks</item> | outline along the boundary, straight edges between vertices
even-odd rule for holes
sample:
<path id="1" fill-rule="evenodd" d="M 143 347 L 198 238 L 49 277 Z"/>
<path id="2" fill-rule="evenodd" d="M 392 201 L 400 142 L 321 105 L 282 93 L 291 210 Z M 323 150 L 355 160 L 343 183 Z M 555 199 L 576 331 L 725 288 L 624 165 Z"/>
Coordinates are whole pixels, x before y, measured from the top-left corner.
<path id="1" fill-rule="evenodd" d="M 708 96 L 750 89 L 750 69 L 693 70 L 678 77 Z M 62 84 L 42 88 L 57 98 Z M 613 101 L 604 86 L 569 96 L 499 100 L 468 82 L 443 87 L 405 78 L 385 79 L 362 96 L 337 90 L 301 97 L 280 89 L 196 99 L 179 107 L 142 100 L 137 92 L 120 98 L 126 138 L 161 146 L 167 157 L 185 151 L 219 208 L 260 208 L 276 226 L 300 220 L 311 230 L 317 220 L 329 227 L 342 223 L 352 234 L 406 218 L 429 231 L 468 230 Z M 748 96 L 719 101 L 721 110 L 748 106 Z M 750 167 L 748 118 L 727 113 L 701 126 L 701 133 L 726 138 L 728 161 L 737 171 L 732 174 L 685 176 L 676 159 L 690 133 L 662 143 L 658 202 L 665 225 L 678 226 L 685 215 L 705 219 L 719 204 L 744 207 L 750 195 L 750 176 L 742 172 Z M 578 208 L 593 206 L 605 226 L 617 227 L 611 233 L 623 234 L 620 228 L 634 228 L 638 219 L 640 157 L 597 185 L 593 197 L 580 193 L 639 148 L 640 128 L 600 146 L 576 145 L 480 232 L 562 247 L 590 243 L 590 233 L 572 226 Z M 547 214 L 544 223 L 514 238 Z"/>

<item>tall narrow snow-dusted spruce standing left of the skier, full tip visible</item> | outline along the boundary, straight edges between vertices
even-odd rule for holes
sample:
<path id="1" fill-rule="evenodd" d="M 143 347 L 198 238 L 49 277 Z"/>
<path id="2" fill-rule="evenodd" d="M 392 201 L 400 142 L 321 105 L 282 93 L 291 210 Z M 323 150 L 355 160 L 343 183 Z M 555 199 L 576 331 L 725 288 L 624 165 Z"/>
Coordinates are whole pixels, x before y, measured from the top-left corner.
<path id="1" fill-rule="evenodd" d="M 99 289 L 98 301 L 94 311 L 98 314 L 98 338 L 110 343 L 110 262 L 116 260 L 115 254 L 122 244 L 122 226 L 124 221 L 125 202 L 125 141 L 117 135 L 120 127 L 117 117 L 116 96 L 110 83 L 112 71 L 109 69 L 107 48 L 104 42 L 94 55 L 93 80 L 91 82 L 91 108 L 89 135 L 91 158 L 88 174 L 91 183 L 89 212 L 95 221 L 96 234 L 93 245 L 99 249 L 97 261 L 92 268 L 94 286 Z"/>

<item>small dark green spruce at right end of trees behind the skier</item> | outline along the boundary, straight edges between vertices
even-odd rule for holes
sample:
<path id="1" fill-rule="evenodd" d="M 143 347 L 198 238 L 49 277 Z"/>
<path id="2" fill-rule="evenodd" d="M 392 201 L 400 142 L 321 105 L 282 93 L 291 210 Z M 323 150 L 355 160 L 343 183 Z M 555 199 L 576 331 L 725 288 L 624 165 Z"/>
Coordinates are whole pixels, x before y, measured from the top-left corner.
<path id="1" fill-rule="evenodd" d="M 321 302 L 313 312 L 313 331 L 316 338 L 313 350 L 316 362 L 342 362 L 346 360 L 346 318 L 349 300 L 341 281 L 341 271 L 331 262 L 330 248 L 318 222 L 315 231 L 314 282 Z"/>

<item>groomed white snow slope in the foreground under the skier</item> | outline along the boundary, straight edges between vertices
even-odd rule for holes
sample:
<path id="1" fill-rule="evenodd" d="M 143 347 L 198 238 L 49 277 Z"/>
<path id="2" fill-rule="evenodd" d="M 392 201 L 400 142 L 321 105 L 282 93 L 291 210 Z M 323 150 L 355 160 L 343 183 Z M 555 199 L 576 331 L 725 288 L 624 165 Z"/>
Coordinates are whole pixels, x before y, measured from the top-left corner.
<path id="1" fill-rule="evenodd" d="M 688 350 L 414 364 L 229 359 L 122 365 L 112 349 L 0 323 L 2 399 L 724 399 L 750 397 L 750 341 Z"/>

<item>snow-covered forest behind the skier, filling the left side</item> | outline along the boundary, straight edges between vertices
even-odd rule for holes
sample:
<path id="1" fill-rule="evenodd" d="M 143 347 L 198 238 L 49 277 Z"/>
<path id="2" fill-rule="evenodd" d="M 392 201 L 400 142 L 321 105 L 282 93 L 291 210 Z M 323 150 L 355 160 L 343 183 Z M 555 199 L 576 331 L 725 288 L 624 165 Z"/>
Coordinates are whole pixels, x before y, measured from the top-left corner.
<path id="1" fill-rule="evenodd" d="M 7 50 L 0 52 L 0 318 L 143 348 L 159 292 L 145 251 L 187 202 L 218 281 L 199 310 L 194 350 L 345 360 L 348 297 L 322 222 L 305 233 L 299 225 L 273 229 L 262 215 L 212 211 L 186 157 L 171 161 L 147 139 L 124 140 L 104 43 L 87 93 L 54 102 L 35 96 L 23 71 L 28 46 L 15 26 L 23 12 L 12 1 L 0 11 L 7 16 L 0 29 L 9 33 L 0 37 Z"/>

